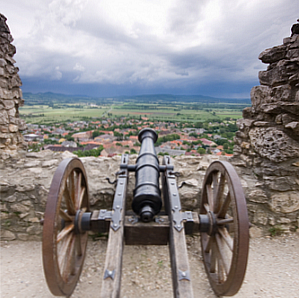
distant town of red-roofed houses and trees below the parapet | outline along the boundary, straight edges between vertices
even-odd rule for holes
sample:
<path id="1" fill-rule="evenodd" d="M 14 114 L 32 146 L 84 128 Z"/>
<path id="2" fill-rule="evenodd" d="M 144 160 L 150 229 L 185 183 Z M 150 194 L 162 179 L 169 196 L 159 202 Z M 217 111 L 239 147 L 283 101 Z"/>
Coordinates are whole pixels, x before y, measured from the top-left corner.
<path id="1" fill-rule="evenodd" d="M 27 123 L 24 138 L 28 151 L 49 149 L 70 151 L 79 157 L 112 157 L 123 153 L 138 154 L 138 132 L 151 127 L 159 135 L 158 155 L 226 155 L 233 154 L 235 119 L 223 122 L 163 122 L 147 117 L 102 118 L 97 121 L 74 121 L 41 125 Z"/>

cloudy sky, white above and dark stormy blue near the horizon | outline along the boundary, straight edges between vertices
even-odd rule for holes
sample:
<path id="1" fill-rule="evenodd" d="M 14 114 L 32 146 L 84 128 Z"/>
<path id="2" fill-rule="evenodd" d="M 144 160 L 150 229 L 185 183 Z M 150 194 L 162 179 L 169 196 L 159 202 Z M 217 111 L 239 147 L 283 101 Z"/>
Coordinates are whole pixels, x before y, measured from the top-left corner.
<path id="1" fill-rule="evenodd" d="M 23 92 L 249 98 L 299 0 L 0 0 Z"/>

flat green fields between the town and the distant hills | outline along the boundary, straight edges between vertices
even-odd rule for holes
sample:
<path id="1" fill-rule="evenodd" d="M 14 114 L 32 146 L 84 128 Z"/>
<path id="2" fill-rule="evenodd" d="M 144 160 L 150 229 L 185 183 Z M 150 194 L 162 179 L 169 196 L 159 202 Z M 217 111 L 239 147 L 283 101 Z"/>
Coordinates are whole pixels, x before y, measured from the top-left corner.
<path id="1" fill-rule="evenodd" d="M 243 105 L 240 108 L 236 104 L 229 108 L 218 108 L 209 105 L 203 108 L 194 104 L 111 104 L 91 107 L 86 103 L 76 104 L 55 104 L 31 105 L 20 108 L 20 117 L 27 123 L 56 123 L 76 120 L 101 119 L 102 117 L 147 117 L 150 120 L 179 121 L 179 122 L 198 122 L 198 121 L 217 121 L 225 118 L 242 118 Z M 228 107 L 228 108 L 227 108 Z"/>

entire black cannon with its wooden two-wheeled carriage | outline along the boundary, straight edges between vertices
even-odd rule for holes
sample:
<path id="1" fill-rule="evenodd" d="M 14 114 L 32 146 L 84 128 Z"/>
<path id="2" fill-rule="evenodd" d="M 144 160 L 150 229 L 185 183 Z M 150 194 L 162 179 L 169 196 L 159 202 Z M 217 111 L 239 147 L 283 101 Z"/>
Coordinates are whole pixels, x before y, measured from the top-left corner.
<path id="1" fill-rule="evenodd" d="M 100 297 L 120 297 L 125 245 L 169 245 L 173 295 L 193 297 L 186 234 L 200 234 L 204 267 L 217 296 L 235 295 L 243 282 L 249 249 L 249 221 L 242 186 L 233 166 L 214 161 L 203 181 L 199 212 L 183 211 L 170 156 L 162 165 L 157 133 L 139 132 L 135 165 L 122 155 L 112 210 L 90 209 L 88 181 L 80 159 L 58 166 L 43 223 L 43 267 L 55 296 L 70 297 L 82 271 L 88 232 L 109 232 Z M 129 172 L 135 172 L 132 211 L 126 211 Z M 161 180 L 161 189 L 159 179 Z M 133 214 L 133 215 L 132 215 Z"/>

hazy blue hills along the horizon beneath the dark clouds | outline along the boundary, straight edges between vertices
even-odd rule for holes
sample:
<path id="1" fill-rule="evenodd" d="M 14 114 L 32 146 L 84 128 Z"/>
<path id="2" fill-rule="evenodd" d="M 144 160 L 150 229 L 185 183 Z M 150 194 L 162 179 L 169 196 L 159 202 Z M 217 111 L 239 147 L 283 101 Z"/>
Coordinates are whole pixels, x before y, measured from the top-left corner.
<path id="1" fill-rule="evenodd" d="M 146 94 L 135 96 L 90 97 L 84 95 L 66 95 L 59 93 L 30 93 L 24 92 L 26 105 L 49 105 L 53 103 L 95 103 L 107 102 L 141 102 L 141 103 L 230 103 L 251 104 L 249 98 L 215 98 L 205 95 L 173 95 L 173 94 Z"/>

